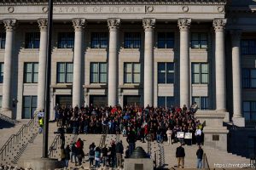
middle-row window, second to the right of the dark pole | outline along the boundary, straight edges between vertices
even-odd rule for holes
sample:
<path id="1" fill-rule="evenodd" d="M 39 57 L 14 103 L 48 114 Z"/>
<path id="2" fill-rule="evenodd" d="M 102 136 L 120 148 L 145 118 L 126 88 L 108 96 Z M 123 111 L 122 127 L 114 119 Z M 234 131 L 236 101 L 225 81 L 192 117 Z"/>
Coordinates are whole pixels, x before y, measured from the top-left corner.
<path id="1" fill-rule="evenodd" d="M 107 63 L 90 63 L 90 83 L 107 83 Z"/>

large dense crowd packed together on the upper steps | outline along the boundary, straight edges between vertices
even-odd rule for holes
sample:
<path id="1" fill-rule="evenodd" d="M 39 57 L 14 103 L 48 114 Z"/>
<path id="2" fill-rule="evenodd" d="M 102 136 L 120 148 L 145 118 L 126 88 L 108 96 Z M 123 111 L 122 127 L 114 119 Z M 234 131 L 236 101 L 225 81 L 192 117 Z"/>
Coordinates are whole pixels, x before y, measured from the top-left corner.
<path id="1" fill-rule="evenodd" d="M 66 133 L 111 133 L 123 134 L 132 129 L 136 140 L 156 140 L 168 144 L 181 142 L 183 144 L 201 144 L 203 142 L 202 125 L 195 118 L 198 105 L 190 107 L 183 105 L 145 108 L 130 105 L 98 107 L 77 105 L 55 105 L 55 121 L 59 127 L 65 128 Z M 180 133 L 190 133 L 191 138 L 180 137 Z"/>

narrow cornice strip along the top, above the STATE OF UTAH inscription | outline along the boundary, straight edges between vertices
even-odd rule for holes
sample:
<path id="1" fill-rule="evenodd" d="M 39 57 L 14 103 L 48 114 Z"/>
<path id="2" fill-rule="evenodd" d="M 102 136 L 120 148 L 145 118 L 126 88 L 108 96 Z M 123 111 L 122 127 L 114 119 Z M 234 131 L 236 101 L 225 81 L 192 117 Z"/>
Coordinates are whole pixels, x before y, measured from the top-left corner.
<path id="1" fill-rule="evenodd" d="M 173 4 L 173 5 L 219 5 L 228 0 L 54 0 L 55 4 Z M 47 4 L 48 0 L 2 0 L 0 5 Z"/>

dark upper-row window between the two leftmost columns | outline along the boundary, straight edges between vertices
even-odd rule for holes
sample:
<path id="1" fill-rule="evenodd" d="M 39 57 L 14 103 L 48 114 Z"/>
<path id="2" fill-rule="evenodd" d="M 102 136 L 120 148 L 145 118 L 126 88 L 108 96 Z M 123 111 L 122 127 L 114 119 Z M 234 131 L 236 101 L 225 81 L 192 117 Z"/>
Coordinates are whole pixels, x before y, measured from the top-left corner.
<path id="1" fill-rule="evenodd" d="M 39 48 L 40 32 L 26 32 L 25 48 Z"/>

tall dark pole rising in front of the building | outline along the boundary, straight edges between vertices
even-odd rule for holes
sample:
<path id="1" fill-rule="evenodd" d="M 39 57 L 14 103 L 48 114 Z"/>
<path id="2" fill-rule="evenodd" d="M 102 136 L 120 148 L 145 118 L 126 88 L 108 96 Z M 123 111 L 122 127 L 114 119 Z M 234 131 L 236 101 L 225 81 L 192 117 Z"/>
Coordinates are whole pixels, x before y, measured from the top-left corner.
<path id="1" fill-rule="evenodd" d="M 51 65 L 51 35 L 52 35 L 52 14 L 53 0 L 48 3 L 48 30 L 47 30 L 47 55 L 46 55 L 46 81 L 45 81 L 45 111 L 44 111 L 44 144 L 43 157 L 48 158 L 48 136 L 49 136 L 49 85 L 50 85 L 50 65 Z"/>

